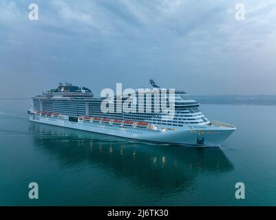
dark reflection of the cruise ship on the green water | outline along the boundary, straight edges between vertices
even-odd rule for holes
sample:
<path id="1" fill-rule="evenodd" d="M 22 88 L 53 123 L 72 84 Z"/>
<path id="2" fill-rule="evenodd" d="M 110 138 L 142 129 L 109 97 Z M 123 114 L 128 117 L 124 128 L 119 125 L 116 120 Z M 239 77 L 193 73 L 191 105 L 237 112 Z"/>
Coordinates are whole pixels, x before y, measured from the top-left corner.
<path id="1" fill-rule="evenodd" d="M 156 196 L 187 190 L 199 173 L 218 175 L 233 170 L 219 148 L 129 142 L 37 123 L 30 123 L 30 132 L 36 149 L 51 155 L 61 168 L 87 168 L 88 164 Z"/>

